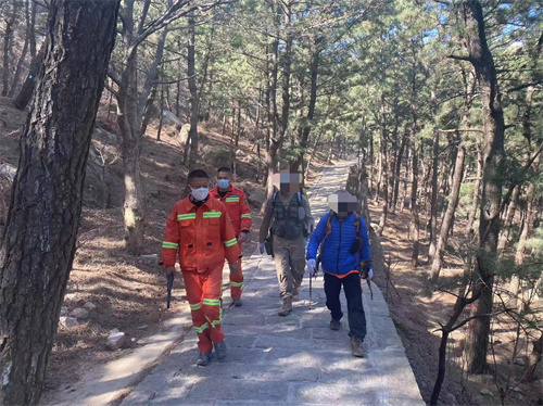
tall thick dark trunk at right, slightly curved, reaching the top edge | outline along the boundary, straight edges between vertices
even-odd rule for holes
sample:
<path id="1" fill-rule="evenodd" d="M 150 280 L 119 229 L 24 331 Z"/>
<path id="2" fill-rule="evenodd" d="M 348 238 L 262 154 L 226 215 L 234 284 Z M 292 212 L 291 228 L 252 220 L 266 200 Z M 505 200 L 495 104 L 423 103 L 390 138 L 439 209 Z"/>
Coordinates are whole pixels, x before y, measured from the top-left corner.
<path id="1" fill-rule="evenodd" d="M 484 131 L 484 164 L 479 221 L 479 250 L 477 274 L 481 278 L 481 296 L 471 309 L 473 319 L 469 331 L 465 355 L 467 369 L 471 373 L 483 373 L 487 368 L 487 351 L 492 313 L 492 290 L 497 239 L 500 237 L 500 212 L 502 203 L 502 164 L 504 150 L 504 114 L 496 68 L 487 42 L 484 15 L 481 3 L 470 0 L 462 4 L 465 39 L 469 59 L 479 81 Z"/>

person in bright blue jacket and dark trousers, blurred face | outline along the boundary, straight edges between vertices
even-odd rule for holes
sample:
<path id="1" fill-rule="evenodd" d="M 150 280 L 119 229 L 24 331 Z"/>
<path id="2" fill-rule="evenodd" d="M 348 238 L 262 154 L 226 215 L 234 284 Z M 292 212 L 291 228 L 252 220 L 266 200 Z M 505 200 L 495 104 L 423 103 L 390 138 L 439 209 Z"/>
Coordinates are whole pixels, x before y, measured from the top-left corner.
<path id="1" fill-rule="evenodd" d="M 371 254 L 366 223 L 355 212 L 356 198 L 346 191 L 328 196 L 330 212 L 325 214 L 307 246 L 310 276 L 316 270 L 317 252 L 325 275 L 326 306 L 330 309 L 330 329 L 341 328 L 341 286 L 346 296 L 349 335 L 354 356 L 363 357 L 362 343 L 366 337 L 366 316 L 362 304 L 361 275 L 372 278 Z"/>

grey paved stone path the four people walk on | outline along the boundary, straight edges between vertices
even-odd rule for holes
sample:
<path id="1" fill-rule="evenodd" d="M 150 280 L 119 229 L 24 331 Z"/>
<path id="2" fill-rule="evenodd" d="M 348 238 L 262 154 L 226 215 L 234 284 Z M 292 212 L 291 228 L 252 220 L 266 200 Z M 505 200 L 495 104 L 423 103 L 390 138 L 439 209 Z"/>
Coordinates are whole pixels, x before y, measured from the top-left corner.
<path id="1" fill-rule="evenodd" d="M 310 196 L 316 219 L 328 211 L 326 196 L 345 185 L 348 173 L 349 163 L 337 165 L 314 182 Z M 349 350 L 346 315 L 340 331 L 328 328 L 321 275 L 313 280 L 311 306 L 306 276 L 288 317 L 277 315 L 279 289 L 270 257 L 253 254 L 244 278 L 242 307 L 228 307 L 225 292 L 226 359 L 197 367 L 192 330 L 123 406 L 424 405 L 388 305 L 375 284 L 372 301 L 364 284 L 366 357 L 355 358 Z M 346 312 L 344 297 L 342 306 Z"/>

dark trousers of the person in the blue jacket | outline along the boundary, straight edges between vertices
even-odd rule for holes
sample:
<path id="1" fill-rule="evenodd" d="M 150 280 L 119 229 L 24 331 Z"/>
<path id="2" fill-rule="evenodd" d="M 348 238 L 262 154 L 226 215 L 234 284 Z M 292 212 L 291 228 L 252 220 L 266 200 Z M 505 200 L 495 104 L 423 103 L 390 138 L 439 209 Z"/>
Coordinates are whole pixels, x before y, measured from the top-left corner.
<path id="1" fill-rule="evenodd" d="M 367 332 L 366 315 L 362 304 L 362 286 L 358 272 L 350 274 L 341 279 L 325 272 L 326 307 L 330 310 L 333 320 L 341 320 L 343 312 L 341 312 L 339 295 L 342 284 L 346 297 L 349 335 L 364 341 Z"/>

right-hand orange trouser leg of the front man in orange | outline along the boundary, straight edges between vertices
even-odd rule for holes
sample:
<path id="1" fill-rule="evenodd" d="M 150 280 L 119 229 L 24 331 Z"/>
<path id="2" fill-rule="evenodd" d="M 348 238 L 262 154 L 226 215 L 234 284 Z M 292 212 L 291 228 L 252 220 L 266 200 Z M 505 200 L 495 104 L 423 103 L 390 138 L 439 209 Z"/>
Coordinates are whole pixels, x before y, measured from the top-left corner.
<path id="1" fill-rule="evenodd" d="M 220 343 L 225 339 L 220 322 L 223 309 L 220 308 L 220 287 L 223 284 L 223 265 L 210 268 L 203 277 L 202 312 L 210 325 L 210 338 L 213 343 Z"/>

